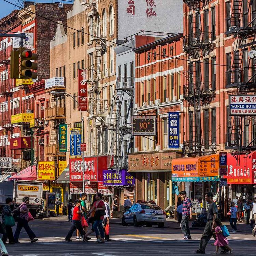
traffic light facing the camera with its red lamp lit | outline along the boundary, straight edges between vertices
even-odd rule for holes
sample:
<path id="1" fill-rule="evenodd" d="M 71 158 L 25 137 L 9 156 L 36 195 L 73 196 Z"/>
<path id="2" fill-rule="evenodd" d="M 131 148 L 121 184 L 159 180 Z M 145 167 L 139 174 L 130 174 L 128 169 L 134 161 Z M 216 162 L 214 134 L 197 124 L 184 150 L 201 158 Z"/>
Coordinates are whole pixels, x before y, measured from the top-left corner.
<path id="1" fill-rule="evenodd" d="M 37 54 L 32 53 L 25 47 L 20 47 L 20 62 L 19 62 L 19 77 L 23 79 L 37 78 L 37 73 L 32 70 L 37 70 L 37 63 L 31 60 L 37 60 Z"/>

